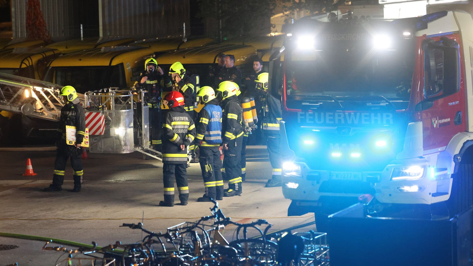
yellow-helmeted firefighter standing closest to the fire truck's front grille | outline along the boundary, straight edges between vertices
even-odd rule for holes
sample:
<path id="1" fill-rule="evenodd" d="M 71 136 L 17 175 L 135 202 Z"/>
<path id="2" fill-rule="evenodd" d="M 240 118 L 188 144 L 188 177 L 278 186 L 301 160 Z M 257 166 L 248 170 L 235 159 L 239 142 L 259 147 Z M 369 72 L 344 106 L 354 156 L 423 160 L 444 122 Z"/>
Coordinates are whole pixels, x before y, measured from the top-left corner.
<path id="1" fill-rule="evenodd" d="M 279 121 L 282 119 L 281 102 L 268 93 L 268 73 L 258 75 L 256 89 L 260 93 L 263 121 L 262 129 L 266 139 L 269 160 L 272 166 L 272 177 L 265 187 L 281 186 L 282 160 L 280 152 Z"/>

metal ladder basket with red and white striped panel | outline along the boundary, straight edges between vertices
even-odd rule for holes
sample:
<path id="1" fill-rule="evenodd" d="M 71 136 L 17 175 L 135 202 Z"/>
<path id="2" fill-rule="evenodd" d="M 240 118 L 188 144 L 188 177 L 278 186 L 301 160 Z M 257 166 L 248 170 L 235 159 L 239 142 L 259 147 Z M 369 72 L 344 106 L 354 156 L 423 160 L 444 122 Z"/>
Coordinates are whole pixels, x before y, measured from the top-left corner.
<path id="1" fill-rule="evenodd" d="M 85 93 L 86 124 L 90 152 L 131 153 L 133 138 L 133 94 L 114 88 Z"/>

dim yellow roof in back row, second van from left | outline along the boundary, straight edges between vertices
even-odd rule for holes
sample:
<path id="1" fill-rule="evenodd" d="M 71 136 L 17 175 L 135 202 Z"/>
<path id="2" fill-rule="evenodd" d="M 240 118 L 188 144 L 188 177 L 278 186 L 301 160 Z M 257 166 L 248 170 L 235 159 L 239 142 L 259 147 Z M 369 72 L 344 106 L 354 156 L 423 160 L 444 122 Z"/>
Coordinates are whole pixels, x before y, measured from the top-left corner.
<path id="1" fill-rule="evenodd" d="M 82 39 L 73 39 L 62 41 L 54 44 L 49 44 L 46 47 L 58 49 L 61 53 L 73 53 L 78 51 L 84 51 L 92 48 L 101 48 L 105 46 L 117 46 L 123 44 L 129 44 L 133 42 L 132 38 L 125 37 L 88 37 Z"/>

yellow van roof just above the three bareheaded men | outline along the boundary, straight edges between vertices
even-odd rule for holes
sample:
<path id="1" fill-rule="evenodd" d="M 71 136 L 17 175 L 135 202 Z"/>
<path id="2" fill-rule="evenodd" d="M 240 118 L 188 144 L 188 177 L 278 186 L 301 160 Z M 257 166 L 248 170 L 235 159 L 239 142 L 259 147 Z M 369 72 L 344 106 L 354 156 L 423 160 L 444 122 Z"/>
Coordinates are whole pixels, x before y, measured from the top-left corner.
<path id="1" fill-rule="evenodd" d="M 158 64 L 208 64 L 215 63 L 219 53 L 233 54 L 235 65 L 247 62 L 248 58 L 256 55 L 256 49 L 248 45 L 213 44 L 208 46 L 187 48 L 159 55 Z"/>

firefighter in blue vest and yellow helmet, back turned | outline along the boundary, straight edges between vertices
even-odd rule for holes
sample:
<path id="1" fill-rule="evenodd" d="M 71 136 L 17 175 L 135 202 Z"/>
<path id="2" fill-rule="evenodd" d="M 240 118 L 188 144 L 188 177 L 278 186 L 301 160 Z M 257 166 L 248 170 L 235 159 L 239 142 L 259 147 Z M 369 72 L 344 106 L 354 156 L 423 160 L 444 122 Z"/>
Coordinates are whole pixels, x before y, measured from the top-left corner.
<path id="1" fill-rule="evenodd" d="M 197 93 L 202 104 L 197 117 L 196 145 L 200 146 L 200 159 L 205 194 L 197 199 L 209 202 L 211 199 L 223 199 L 222 161 L 219 147 L 222 143 L 222 108 L 210 86 L 202 87 Z"/>

